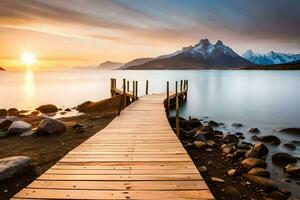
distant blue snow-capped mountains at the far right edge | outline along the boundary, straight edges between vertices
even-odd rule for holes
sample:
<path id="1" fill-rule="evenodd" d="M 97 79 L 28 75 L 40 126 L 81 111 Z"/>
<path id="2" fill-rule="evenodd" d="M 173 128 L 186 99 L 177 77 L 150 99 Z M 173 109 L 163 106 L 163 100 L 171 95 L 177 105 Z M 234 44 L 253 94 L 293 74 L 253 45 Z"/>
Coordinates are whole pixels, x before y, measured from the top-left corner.
<path id="1" fill-rule="evenodd" d="M 283 64 L 300 60 L 300 54 L 286 54 L 274 51 L 270 51 L 267 54 L 260 54 L 253 52 L 251 49 L 243 53 L 242 57 L 260 65 Z"/>

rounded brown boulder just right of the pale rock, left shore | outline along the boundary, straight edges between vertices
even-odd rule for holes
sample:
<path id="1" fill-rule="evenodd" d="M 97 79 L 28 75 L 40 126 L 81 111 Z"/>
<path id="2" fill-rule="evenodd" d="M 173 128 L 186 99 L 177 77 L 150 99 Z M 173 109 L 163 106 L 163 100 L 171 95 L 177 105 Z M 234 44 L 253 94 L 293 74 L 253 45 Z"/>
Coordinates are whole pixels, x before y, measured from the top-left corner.
<path id="1" fill-rule="evenodd" d="M 37 135 L 54 135 L 63 133 L 67 130 L 65 124 L 56 119 L 43 119 L 37 128 Z"/>

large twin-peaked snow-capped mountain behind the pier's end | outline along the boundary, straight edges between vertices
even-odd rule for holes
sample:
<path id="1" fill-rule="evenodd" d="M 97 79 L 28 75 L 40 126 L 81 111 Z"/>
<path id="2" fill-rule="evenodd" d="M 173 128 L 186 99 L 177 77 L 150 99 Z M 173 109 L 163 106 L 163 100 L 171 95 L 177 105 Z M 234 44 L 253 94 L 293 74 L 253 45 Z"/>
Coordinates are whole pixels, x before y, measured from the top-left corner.
<path id="1" fill-rule="evenodd" d="M 220 40 L 211 44 L 208 39 L 202 39 L 194 46 L 184 47 L 126 69 L 229 69 L 249 65 L 253 63 L 239 56 Z"/>

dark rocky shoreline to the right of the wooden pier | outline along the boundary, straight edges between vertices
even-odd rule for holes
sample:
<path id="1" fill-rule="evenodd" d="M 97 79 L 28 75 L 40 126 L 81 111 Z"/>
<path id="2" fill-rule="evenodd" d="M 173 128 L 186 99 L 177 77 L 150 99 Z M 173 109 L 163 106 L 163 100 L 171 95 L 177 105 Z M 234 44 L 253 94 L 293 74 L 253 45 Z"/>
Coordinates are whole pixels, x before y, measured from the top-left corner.
<path id="1" fill-rule="evenodd" d="M 175 130 L 175 118 L 169 117 Z M 257 136 L 257 128 L 248 130 L 255 143 L 244 141 L 241 132 L 223 133 L 217 130 L 222 125 L 212 120 L 180 118 L 180 140 L 193 159 L 199 172 L 216 199 L 274 199 L 296 200 L 289 188 L 280 187 L 267 171 L 267 165 L 280 166 L 285 173 L 283 181 L 300 184 L 299 158 L 287 153 L 271 154 L 264 143 L 280 143 L 273 135 Z M 243 126 L 234 123 L 232 126 Z M 290 143 L 290 148 L 294 148 Z M 289 145 L 288 145 L 289 146 Z M 271 156 L 272 163 L 267 157 Z"/>

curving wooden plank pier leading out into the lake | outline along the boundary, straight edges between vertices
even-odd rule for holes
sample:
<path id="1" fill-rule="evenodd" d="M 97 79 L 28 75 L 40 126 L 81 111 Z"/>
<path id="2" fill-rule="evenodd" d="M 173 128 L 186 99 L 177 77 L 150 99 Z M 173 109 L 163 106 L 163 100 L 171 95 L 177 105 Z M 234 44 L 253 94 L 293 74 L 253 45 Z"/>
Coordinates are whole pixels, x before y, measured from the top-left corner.
<path id="1" fill-rule="evenodd" d="M 166 105 L 185 88 L 167 99 L 130 96 L 135 101 L 106 128 L 13 199 L 214 199 L 166 118 Z"/>

